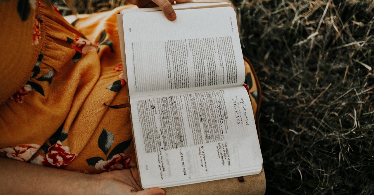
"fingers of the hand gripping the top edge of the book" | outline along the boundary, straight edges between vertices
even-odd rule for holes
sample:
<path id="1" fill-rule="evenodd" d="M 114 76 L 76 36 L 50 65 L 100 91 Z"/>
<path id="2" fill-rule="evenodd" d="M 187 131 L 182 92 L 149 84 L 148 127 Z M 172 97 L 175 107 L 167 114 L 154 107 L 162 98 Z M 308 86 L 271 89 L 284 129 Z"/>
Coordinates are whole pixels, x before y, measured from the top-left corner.
<path id="1" fill-rule="evenodd" d="M 144 7 L 157 7 L 160 6 L 162 12 L 170 21 L 174 21 L 177 18 L 174 9 L 171 6 L 174 0 L 128 0 L 131 4 L 134 4 L 140 8 Z M 176 3 L 190 2 L 190 0 L 175 0 Z"/>

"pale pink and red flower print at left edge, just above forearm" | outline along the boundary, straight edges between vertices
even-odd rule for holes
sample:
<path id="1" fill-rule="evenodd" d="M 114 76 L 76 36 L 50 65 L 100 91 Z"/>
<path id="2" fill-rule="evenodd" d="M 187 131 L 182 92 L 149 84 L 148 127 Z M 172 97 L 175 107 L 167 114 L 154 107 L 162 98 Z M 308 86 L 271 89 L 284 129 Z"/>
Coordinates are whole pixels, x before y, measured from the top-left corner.
<path id="1" fill-rule="evenodd" d="M 28 161 L 40 148 L 37 144 L 22 144 L 15 147 L 0 148 L 0 152 L 6 153 L 8 158 L 20 161 Z"/>

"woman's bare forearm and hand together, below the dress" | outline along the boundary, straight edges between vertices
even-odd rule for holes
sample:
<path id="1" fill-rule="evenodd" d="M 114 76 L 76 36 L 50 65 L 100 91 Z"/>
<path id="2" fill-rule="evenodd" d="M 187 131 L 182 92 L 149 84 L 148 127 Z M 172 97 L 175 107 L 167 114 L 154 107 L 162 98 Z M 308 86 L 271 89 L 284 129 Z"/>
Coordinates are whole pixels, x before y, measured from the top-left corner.
<path id="1" fill-rule="evenodd" d="M 136 168 L 86 174 L 0 157 L 0 176 L 0 194 L 165 195 L 160 188 L 142 190 Z"/>

